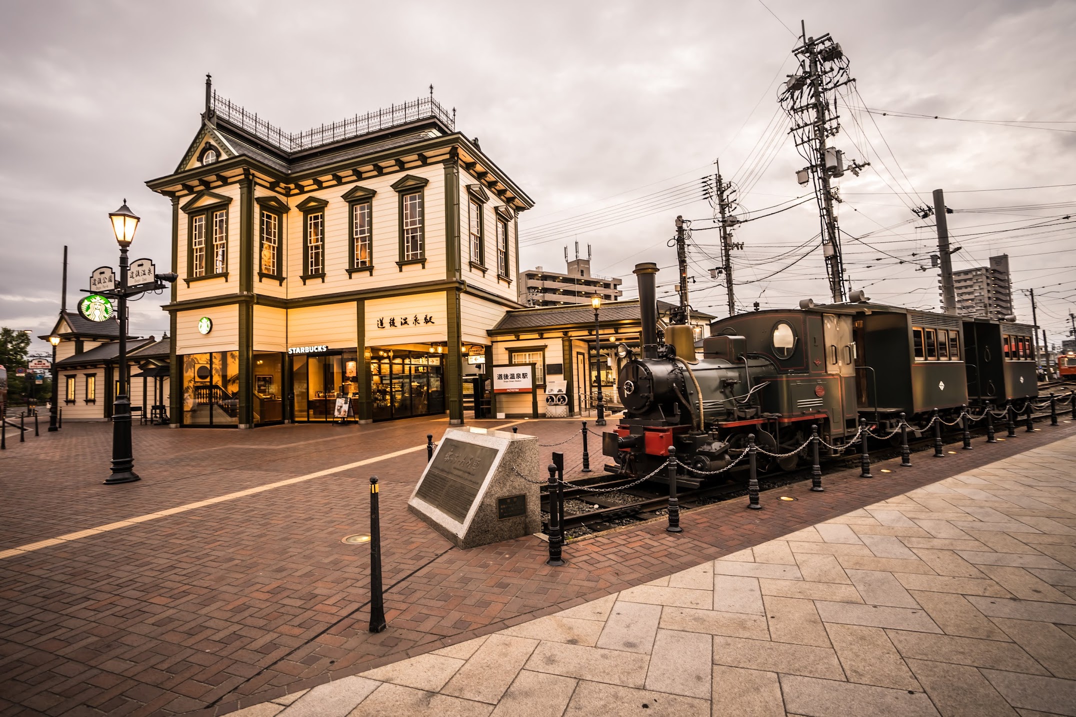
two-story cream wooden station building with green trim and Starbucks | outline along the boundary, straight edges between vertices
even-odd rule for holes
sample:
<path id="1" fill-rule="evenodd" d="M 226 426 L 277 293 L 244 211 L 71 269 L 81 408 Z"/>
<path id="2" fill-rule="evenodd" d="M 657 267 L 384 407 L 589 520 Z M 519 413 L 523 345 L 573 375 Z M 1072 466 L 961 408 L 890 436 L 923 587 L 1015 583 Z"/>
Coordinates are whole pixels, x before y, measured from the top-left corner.
<path id="1" fill-rule="evenodd" d="M 173 426 L 463 419 L 533 201 L 421 98 L 288 133 L 206 85 L 172 202 Z"/>

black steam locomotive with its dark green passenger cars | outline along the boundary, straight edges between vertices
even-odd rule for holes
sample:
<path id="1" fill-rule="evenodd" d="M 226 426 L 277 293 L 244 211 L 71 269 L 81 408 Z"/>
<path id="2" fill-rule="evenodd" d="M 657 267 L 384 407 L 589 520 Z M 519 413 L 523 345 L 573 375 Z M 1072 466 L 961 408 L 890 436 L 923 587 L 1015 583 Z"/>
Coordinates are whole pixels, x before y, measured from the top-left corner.
<path id="1" fill-rule="evenodd" d="M 904 414 L 916 435 L 935 408 L 946 418 L 968 404 L 1038 396 L 1032 326 L 872 303 L 852 291 L 845 303 L 806 299 L 798 310 L 714 321 L 697 358 L 685 307 L 659 332 L 656 264 L 634 273 L 641 355 L 617 347 L 624 417 L 601 442 L 620 473 L 650 474 L 675 446 L 690 465 L 682 482 L 697 486 L 735 460 L 750 433 L 761 448 L 785 454 L 818 425 L 833 454 L 853 440 L 861 417 L 888 433 Z M 759 458 L 763 470 L 791 471 L 801 460 Z"/>

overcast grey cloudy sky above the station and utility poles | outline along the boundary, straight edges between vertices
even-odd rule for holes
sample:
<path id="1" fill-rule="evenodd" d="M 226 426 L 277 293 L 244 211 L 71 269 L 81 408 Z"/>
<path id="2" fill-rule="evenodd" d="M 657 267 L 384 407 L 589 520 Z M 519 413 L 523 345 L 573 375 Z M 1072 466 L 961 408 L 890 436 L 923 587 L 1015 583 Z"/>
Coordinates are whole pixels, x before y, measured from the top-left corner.
<path id="1" fill-rule="evenodd" d="M 954 268 L 1007 253 L 1015 288 L 1036 289 L 1051 342 L 1076 310 L 1076 225 L 1062 218 L 1076 210 L 1070 1 L 3 0 L 0 12 L 3 326 L 49 329 L 65 244 L 69 305 L 91 269 L 115 263 L 107 214 L 124 198 L 142 217 L 133 256 L 164 269 L 169 202 L 144 182 L 171 172 L 197 131 L 207 72 L 224 96 L 288 131 L 434 84 L 458 129 L 537 202 L 521 218 L 524 267 L 561 268 L 579 241 L 595 272 L 627 286 L 635 262 L 656 261 L 666 291 L 666 243 L 682 214 L 693 227 L 692 304 L 724 315 L 700 178 L 720 159 L 745 218 L 804 195 L 794 175 L 804 160 L 777 103 L 801 19 L 809 35 L 840 43 L 856 78 L 833 141 L 872 162 L 840 181 L 853 287 L 937 306 L 936 271 L 917 271 L 930 264 L 933 219 L 911 209 L 944 188 L 962 247 Z M 826 299 L 821 250 L 809 252 L 817 232 L 812 202 L 740 227 L 739 306 Z M 161 299 L 133 305 L 136 332 L 167 328 Z M 1017 299 L 1030 320 L 1025 295 Z"/>

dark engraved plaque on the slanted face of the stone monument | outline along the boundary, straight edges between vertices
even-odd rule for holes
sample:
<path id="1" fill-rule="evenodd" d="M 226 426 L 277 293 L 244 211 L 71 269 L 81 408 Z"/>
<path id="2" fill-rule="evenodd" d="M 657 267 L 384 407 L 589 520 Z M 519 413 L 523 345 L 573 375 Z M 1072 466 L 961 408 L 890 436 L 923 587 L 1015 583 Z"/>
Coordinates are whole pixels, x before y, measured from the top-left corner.
<path id="1" fill-rule="evenodd" d="M 415 497 L 463 522 L 496 458 L 496 448 L 444 439 Z"/>

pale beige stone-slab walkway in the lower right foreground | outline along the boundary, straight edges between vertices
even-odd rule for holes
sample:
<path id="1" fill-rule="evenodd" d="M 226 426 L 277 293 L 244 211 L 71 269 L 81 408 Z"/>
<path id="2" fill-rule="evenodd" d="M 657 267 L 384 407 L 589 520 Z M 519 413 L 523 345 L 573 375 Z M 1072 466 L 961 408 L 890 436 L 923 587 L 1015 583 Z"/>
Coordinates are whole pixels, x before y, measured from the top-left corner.
<path id="1" fill-rule="evenodd" d="M 1076 715 L 1074 464 L 1070 436 L 233 714 Z"/>

